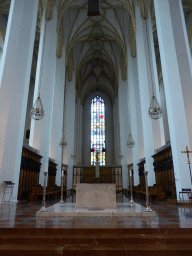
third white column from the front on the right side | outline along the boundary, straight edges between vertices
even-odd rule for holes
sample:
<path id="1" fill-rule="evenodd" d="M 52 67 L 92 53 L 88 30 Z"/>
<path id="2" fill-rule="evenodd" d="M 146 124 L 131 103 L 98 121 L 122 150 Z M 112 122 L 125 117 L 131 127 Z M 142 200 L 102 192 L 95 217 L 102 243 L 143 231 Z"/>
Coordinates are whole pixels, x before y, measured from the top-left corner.
<path id="1" fill-rule="evenodd" d="M 139 140 L 138 140 L 138 116 L 137 116 L 137 108 L 136 108 L 136 98 L 135 98 L 135 86 L 134 86 L 134 76 L 133 76 L 133 64 L 132 57 L 130 54 L 130 49 L 128 52 L 129 60 L 128 60 L 128 110 L 130 114 L 130 126 L 131 126 L 131 134 L 133 140 L 135 142 L 135 146 L 132 148 L 133 152 L 133 175 L 134 175 L 134 185 L 137 186 L 139 184 L 139 174 L 138 174 L 138 163 L 139 163 Z"/>

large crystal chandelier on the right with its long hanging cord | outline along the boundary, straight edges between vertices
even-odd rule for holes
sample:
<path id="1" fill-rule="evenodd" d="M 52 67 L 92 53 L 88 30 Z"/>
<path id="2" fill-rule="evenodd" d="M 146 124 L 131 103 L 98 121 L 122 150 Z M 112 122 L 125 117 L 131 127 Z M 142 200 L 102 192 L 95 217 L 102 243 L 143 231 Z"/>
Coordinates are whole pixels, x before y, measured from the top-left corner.
<path id="1" fill-rule="evenodd" d="M 147 47 L 148 47 L 148 56 L 149 56 L 149 67 L 150 67 L 150 76 L 151 76 L 151 85 L 152 85 L 152 92 L 153 96 L 151 99 L 150 107 L 148 110 L 148 114 L 152 119 L 159 119 L 162 115 L 162 109 L 155 97 L 154 94 L 154 88 L 153 88 L 153 78 L 152 78 L 152 69 L 151 69 L 151 57 L 150 57 L 150 52 L 149 52 L 149 38 L 148 38 L 148 30 L 147 30 L 147 24 L 146 24 L 146 19 L 145 19 L 145 28 L 146 28 L 146 35 L 147 35 Z"/>

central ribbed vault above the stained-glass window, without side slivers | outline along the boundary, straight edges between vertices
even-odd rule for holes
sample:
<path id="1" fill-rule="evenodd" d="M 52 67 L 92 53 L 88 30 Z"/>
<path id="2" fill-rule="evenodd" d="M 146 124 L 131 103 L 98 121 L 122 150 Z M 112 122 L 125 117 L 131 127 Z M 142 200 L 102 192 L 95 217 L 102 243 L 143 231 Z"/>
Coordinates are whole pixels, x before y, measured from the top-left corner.
<path id="1" fill-rule="evenodd" d="M 61 1 L 58 19 L 60 44 L 65 46 L 68 78 L 75 69 L 78 92 L 91 84 L 105 84 L 117 93 L 118 63 L 121 76 L 127 77 L 127 44 L 129 28 L 135 30 L 132 1 L 100 1 L 100 15 L 87 16 L 87 0 Z M 58 47 L 58 57 L 62 52 Z M 103 86 L 102 86 L 103 87 Z"/>

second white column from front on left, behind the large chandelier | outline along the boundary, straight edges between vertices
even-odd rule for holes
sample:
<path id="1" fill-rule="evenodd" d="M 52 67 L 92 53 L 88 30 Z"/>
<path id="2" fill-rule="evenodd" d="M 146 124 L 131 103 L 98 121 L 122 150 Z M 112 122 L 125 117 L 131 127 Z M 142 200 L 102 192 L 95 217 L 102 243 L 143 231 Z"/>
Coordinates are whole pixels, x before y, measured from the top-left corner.
<path id="1" fill-rule="evenodd" d="M 37 99 L 38 87 L 40 86 L 40 96 L 44 107 L 45 115 L 39 121 L 32 120 L 30 146 L 39 150 L 42 158 L 39 183 L 43 185 L 45 164 L 49 162 L 49 151 L 51 142 L 51 126 L 53 113 L 53 99 L 56 72 L 56 45 L 57 45 L 57 8 L 53 7 L 53 19 L 42 21 L 42 35 L 40 38 L 40 49 L 38 64 L 40 74 L 36 74 L 34 101 Z M 43 40 L 43 34 L 45 38 Z M 43 43 L 44 41 L 44 43 Z"/>

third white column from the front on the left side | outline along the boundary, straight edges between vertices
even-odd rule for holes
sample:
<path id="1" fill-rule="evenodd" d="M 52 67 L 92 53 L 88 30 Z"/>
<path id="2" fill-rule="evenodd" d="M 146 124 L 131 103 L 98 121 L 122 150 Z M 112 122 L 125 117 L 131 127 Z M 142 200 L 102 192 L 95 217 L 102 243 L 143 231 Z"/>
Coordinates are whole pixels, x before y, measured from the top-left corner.
<path id="1" fill-rule="evenodd" d="M 65 54 L 62 58 L 56 60 L 55 89 L 53 100 L 50 158 L 57 164 L 56 185 L 61 184 L 61 163 L 62 148 L 59 143 L 63 133 L 63 110 L 64 110 L 64 91 L 65 91 Z M 64 149 L 65 150 L 65 149 Z"/>

